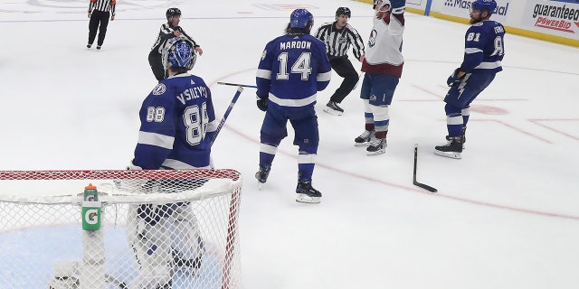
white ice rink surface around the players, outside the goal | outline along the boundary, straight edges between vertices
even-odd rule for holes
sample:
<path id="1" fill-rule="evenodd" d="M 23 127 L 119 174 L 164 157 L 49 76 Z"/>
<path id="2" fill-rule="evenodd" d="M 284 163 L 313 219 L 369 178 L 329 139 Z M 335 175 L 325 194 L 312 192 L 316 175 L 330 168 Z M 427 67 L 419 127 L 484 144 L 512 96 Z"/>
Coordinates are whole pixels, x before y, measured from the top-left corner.
<path id="1" fill-rule="evenodd" d="M 371 5 L 346 0 L 119 1 L 96 51 L 85 47 L 88 3 L 0 0 L 0 170 L 124 168 L 138 109 L 157 83 L 147 54 L 168 7 L 182 10 L 181 26 L 204 49 L 193 73 L 210 85 L 218 116 L 235 88 L 217 82 L 254 85 L 261 51 L 293 9 L 307 8 L 317 29 L 348 6 L 365 41 L 373 16 Z M 467 149 L 453 160 L 432 149 L 444 142 L 445 81 L 460 65 L 468 26 L 405 18 L 386 154 L 354 146 L 364 130 L 359 87 L 340 117 L 322 111 L 341 82 L 336 73 L 318 93 L 318 205 L 294 201 L 290 128 L 258 190 L 263 113 L 255 90 L 243 91 L 214 163 L 244 176 L 244 288 L 576 288 L 579 50 L 508 34 L 504 71 L 473 103 Z M 438 193 L 413 186 L 415 143 L 418 180 Z"/>

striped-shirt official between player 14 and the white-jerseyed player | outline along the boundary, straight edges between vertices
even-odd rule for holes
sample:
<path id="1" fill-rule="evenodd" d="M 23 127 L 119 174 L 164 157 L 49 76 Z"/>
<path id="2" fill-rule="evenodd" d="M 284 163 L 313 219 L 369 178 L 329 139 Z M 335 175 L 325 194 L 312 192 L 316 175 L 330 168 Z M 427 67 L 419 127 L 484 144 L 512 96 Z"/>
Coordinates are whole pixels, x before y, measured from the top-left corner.
<path id="1" fill-rule="evenodd" d="M 350 49 L 350 45 L 353 48 L 356 59 L 358 61 L 364 60 L 364 42 L 362 42 L 362 37 L 360 37 L 356 29 L 347 23 L 350 16 L 349 8 L 339 7 L 336 11 L 336 21 L 323 24 L 316 33 L 316 38 L 326 43 L 327 58 L 332 65 L 332 69 L 337 72 L 337 75 L 344 78 L 342 84 L 329 98 L 329 102 L 324 108 L 325 112 L 337 116 L 344 113 L 344 109 L 337 104 L 342 102 L 356 87 L 359 79 L 352 62 L 347 59 L 347 51 Z"/>

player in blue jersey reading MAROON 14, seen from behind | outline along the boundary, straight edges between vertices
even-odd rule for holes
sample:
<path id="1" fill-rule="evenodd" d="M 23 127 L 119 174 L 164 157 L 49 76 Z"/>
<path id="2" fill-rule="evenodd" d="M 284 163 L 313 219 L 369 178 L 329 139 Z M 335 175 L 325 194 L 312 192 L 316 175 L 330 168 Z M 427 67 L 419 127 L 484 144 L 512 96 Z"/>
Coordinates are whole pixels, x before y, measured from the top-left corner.
<path id="1" fill-rule="evenodd" d="M 297 201 L 318 203 L 321 193 L 311 185 L 318 154 L 318 117 L 314 105 L 318 91 L 326 89 L 331 77 L 326 46 L 310 35 L 314 17 L 296 9 L 289 17 L 285 34 L 268 42 L 257 71 L 257 106 L 265 111 L 261 126 L 260 170 L 255 178 L 264 183 L 281 140 L 288 135 L 287 123 L 295 131 L 299 146 Z"/>

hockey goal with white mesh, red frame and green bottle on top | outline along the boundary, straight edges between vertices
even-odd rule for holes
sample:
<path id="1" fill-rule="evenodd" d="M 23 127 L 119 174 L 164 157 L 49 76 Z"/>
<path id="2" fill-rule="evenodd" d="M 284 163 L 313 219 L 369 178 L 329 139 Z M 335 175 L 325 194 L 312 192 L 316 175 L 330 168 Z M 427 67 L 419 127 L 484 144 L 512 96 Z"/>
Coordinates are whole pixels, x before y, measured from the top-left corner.
<path id="1" fill-rule="evenodd" d="M 0 171 L 0 288 L 240 289 L 234 170 Z"/>

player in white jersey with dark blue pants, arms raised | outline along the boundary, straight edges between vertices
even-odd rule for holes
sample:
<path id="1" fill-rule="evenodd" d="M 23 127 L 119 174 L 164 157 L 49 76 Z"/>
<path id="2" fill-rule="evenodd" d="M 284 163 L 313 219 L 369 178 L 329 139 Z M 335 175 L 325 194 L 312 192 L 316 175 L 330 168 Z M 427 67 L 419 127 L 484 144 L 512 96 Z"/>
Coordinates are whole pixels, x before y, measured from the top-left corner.
<path id="1" fill-rule="evenodd" d="M 365 76 L 360 98 L 364 101 L 365 130 L 354 140 L 356 146 L 367 146 L 368 155 L 385 153 L 390 124 L 388 109 L 404 65 L 405 5 L 405 0 L 374 2 L 374 27 L 362 61 Z"/>

